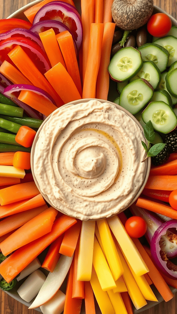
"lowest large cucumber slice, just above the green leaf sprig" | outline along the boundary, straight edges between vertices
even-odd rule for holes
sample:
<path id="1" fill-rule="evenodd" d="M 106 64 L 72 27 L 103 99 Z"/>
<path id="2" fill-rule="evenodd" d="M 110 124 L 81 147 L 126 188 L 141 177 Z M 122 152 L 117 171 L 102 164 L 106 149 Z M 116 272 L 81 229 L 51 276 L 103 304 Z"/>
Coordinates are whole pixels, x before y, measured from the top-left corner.
<path id="1" fill-rule="evenodd" d="M 177 117 L 173 109 L 163 101 L 152 101 L 143 111 L 145 123 L 151 120 L 154 130 L 167 134 L 177 125 Z"/>

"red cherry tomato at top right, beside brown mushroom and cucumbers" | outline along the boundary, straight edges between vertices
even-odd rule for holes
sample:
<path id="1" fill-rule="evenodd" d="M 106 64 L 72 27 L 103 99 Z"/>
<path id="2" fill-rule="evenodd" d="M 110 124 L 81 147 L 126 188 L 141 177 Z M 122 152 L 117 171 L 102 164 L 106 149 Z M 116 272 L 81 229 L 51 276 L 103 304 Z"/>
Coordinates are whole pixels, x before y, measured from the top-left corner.
<path id="1" fill-rule="evenodd" d="M 151 15 L 147 22 L 147 30 L 154 37 L 163 37 L 171 29 L 171 19 L 165 13 Z"/>

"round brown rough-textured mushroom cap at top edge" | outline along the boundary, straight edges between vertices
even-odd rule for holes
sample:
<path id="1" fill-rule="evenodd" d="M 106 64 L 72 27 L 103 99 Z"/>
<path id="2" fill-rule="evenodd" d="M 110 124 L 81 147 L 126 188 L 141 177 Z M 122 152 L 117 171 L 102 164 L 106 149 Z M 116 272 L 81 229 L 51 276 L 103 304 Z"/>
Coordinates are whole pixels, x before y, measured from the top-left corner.
<path id="1" fill-rule="evenodd" d="M 137 29 L 148 21 L 153 12 L 153 0 L 114 0 L 112 18 L 123 30 Z"/>

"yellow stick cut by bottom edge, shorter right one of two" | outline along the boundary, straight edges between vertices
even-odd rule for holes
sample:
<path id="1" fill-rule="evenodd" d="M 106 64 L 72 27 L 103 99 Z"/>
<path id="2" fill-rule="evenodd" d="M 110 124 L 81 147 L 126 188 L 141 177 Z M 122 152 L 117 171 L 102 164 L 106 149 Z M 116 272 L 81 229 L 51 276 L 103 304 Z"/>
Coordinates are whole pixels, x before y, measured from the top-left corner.
<path id="1" fill-rule="evenodd" d="M 122 296 L 119 292 L 114 293 L 112 290 L 107 292 L 112 303 L 115 314 L 128 314 Z"/>

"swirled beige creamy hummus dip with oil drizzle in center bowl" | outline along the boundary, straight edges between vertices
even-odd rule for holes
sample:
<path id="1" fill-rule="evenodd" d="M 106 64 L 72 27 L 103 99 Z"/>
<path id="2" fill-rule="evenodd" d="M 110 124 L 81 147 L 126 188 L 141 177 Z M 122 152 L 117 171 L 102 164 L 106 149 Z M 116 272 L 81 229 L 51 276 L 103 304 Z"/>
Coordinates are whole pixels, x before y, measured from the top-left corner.
<path id="1" fill-rule="evenodd" d="M 146 174 L 143 133 L 124 111 L 90 100 L 55 110 L 34 152 L 41 192 L 81 220 L 110 217 L 139 191 Z"/>

